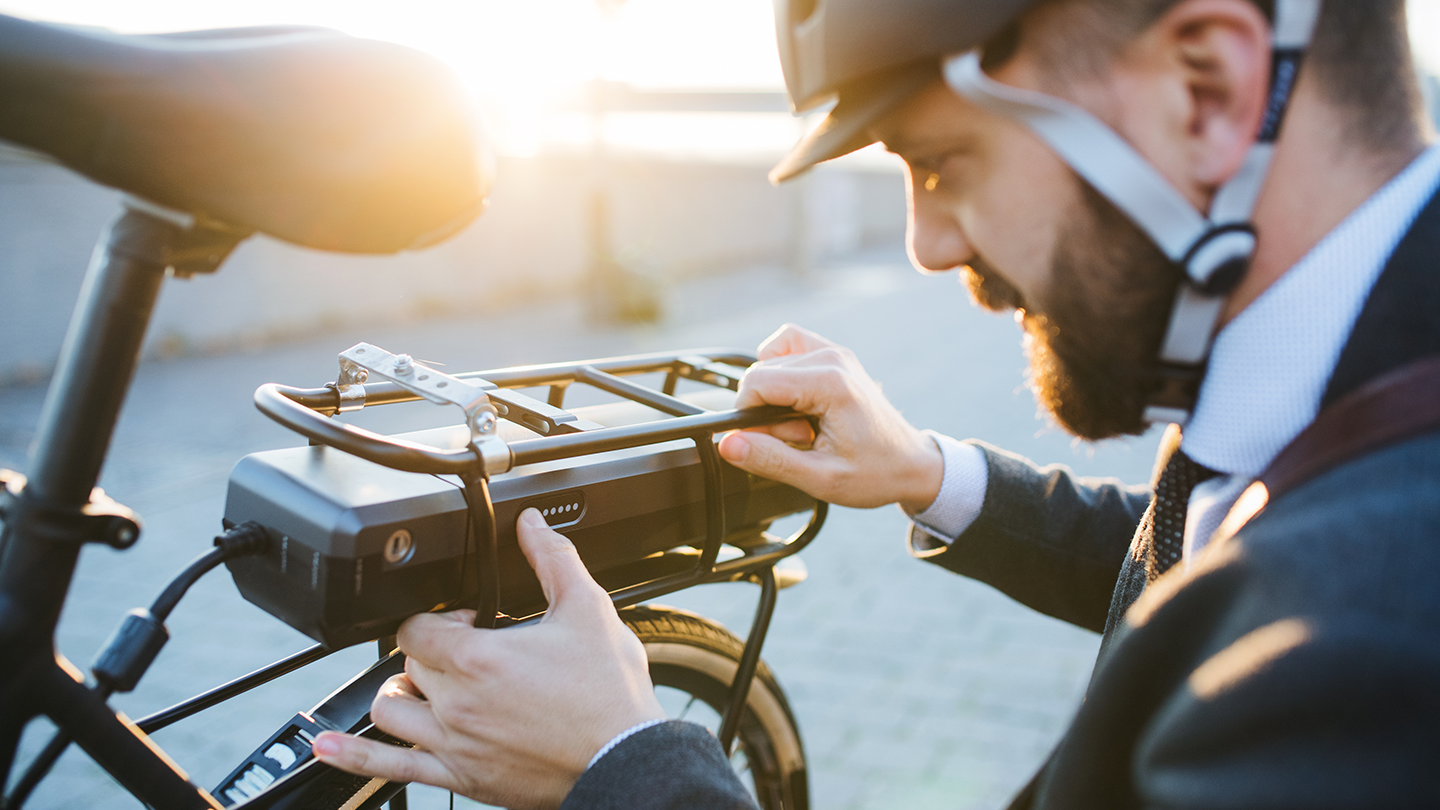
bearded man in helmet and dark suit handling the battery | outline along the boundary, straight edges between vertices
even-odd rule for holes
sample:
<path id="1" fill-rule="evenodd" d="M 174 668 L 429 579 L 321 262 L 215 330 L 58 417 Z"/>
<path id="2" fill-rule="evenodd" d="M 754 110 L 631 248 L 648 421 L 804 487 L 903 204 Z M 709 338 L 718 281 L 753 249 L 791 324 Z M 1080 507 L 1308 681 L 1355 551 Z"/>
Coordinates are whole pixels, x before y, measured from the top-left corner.
<path id="1" fill-rule="evenodd" d="M 1403 3 L 1313 10 L 779 3 L 792 98 L 840 99 L 778 176 L 884 141 L 909 166 L 914 264 L 1021 313 L 1057 421 L 1084 438 L 1184 422 L 1152 496 L 922 434 L 798 327 L 746 375 L 743 405 L 818 431 L 730 435 L 732 463 L 900 503 L 917 555 L 1104 633 L 1015 807 L 1440 803 L 1440 438 L 1362 453 L 1215 530 L 1323 408 L 1440 355 L 1440 150 Z M 373 715 L 422 749 L 327 734 L 318 755 L 511 807 L 747 806 L 703 729 L 658 722 L 642 650 L 541 526 L 521 519 L 544 623 L 402 630 L 408 675 Z"/>

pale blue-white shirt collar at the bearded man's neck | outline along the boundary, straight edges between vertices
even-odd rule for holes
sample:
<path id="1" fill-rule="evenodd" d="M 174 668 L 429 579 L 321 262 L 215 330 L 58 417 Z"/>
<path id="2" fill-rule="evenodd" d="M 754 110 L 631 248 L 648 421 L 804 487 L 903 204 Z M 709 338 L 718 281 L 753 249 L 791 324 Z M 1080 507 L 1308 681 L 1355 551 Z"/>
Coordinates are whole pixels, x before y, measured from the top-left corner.
<path id="1" fill-rule="evenodd" d="M 1437 186 L 1431 146 L 1220 331 L 1185 425 L 1191 458 L 1254 479 L 1315 421 L 1365 298 Z"/>

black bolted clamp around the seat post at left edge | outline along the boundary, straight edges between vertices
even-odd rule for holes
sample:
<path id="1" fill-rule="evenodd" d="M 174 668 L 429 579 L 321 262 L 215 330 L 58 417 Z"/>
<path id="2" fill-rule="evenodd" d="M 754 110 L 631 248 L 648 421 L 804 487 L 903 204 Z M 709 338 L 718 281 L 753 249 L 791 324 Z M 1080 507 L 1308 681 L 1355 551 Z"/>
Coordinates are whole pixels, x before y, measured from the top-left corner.
<path id="1" fill-rule="evenodd" d="M 140 539 L 140 516 L 95 487 L 89 503 L 56 504 L 24 491 L 24 476 L 0 470 L 0 519 L 12 532 L 59 543 L 105 543 L 128 549 Z"/>

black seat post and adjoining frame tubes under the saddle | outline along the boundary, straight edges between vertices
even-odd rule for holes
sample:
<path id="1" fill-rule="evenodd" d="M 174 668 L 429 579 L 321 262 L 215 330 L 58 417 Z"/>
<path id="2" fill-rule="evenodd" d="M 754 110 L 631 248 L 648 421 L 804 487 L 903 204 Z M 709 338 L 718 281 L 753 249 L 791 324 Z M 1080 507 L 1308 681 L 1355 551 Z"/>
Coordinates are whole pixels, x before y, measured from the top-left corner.
<path id="1" fill-rule="evenodd" d="M 128 510 L 92 502 L 92 490 L 166 271 L 213 270 L 242 238 L 127 209 L 95 249 L 40 412 L 29 477 L 0 499 L 0 650 L 7 662 L 0 667 L 0 784 L 20 731 L 43 713 L 143 800 L 164 797 L 151 806 L 212 806 L 84 690 L 53 638 L 81 548 L 124 548 L 138 535 Z"/>

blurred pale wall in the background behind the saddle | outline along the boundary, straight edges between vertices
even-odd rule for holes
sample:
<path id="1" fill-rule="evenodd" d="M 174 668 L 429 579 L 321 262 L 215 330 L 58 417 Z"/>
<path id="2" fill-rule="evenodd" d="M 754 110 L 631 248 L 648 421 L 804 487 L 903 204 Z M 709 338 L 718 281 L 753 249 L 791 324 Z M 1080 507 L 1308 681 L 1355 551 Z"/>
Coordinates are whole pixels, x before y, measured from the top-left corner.
<path id="1" fill-rule="evenodd" d="M 632 154 L 606 164 L 608 249 L 661 306 L 670 281 L 759 264 L 805 274 L 904 232 L 903 180 L 890 169 L 825 169 L 775 187 L 760 163 Z M 220 272 L 164 287 L 147 356 L 603 295 L 590 278 L 593 174 L 583 156 L 504 157 L 487 213 L 423 252 L 354 257 L 251 238 Z M 0 154 L 0 385 L 49 375 L 91 249 L 120 205 L 62 167 Z"/>

